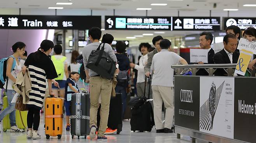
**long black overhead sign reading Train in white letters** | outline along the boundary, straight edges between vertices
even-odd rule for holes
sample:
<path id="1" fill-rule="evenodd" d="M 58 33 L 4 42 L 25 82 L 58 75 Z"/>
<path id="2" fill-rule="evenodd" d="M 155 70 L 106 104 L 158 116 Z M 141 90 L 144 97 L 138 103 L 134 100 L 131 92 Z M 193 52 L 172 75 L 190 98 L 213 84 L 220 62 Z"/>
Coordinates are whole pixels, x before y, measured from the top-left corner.
<path id="1" fill-rule="evenodd" d="M 101 28 L 101 16 L 0 15 L 0 29 Z"/>

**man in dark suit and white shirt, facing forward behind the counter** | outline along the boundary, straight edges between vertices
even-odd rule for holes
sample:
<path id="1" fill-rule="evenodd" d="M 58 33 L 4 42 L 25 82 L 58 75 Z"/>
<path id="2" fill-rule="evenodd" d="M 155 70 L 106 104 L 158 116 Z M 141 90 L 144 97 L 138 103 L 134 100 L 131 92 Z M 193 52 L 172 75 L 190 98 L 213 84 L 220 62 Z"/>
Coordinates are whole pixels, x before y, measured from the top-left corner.
<path id="1" fill-rule="evenodd" d="M 226 34 L 223 38 L 224 49 L 219 51 L 213 56 L 214 63 L 227 64 L 237 63 L 240 53 L 236 52 L 237 49 L 237 37 L 234 34 Z M 224 69 L 217 69 L 214 73 L 216 76 L 228 75 Z"/>

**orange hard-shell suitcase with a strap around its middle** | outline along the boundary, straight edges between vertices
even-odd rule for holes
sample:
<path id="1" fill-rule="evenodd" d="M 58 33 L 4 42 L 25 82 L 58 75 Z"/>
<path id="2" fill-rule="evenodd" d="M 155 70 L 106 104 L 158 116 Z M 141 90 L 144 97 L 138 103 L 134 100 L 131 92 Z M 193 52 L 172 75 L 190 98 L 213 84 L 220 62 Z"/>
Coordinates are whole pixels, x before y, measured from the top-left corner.
<path id="1" fill-rule="evenodd" d="M 45 124 L 46 124 L 46 139 L 50 136 L 58 136 L 58 139 L 62 135 L 62 99 L 55 97 L 46 98 L 46 112 L 45 112 Z"/>

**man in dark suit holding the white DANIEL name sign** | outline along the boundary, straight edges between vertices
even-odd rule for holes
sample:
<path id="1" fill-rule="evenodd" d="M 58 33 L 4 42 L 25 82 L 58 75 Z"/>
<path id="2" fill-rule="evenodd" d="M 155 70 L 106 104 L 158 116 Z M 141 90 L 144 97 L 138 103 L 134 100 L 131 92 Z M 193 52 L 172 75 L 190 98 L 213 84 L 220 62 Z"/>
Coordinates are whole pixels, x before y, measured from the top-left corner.
<path id="1" fill-rule="evenodd" d="M 208 64 L 214 64 L 213 56 L 214 50 L 210 47 L 212 44 L 213 36 L 210 32 L 202 32 L 199 37 L 199 44 L 201 49 L 208 49 Z M 198 62 L 198 64 L 203 64 L 203 62 Z M 201 68 L 196 72 L 196 75 L 205 75 L 208 76 L 209 73 Z"/>

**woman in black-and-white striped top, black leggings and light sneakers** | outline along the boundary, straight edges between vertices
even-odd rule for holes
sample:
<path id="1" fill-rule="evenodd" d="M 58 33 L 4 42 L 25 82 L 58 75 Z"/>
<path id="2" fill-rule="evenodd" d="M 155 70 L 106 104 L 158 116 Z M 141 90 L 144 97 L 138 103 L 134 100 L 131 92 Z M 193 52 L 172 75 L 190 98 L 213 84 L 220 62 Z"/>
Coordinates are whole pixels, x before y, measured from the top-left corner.
<path id="1" fill-rule="evenodd" d="M 53 95 L 51 84 L 52 79 L 58 77 L 53 62 L 48 55 L 53 50 L 54 44 L 50 40 L 44 40 L 40 44 L 40 48 L 35 53 L 28 55 L 24 65 L 30 73 L 32 90 L 29 92 L 28 107 L 28 134 L 27 138 L 38 139 L 40 135 L 37 133 L 40 123 L 40 109 L 43 106 L 46 84 L 49 85 L 49 94 Z M 25 67 L 23 67 L 25 71 Z M 46 83 L 46 79 L 47 82 Z M 32 131 L 33 126 L 33 131 Z"/>

